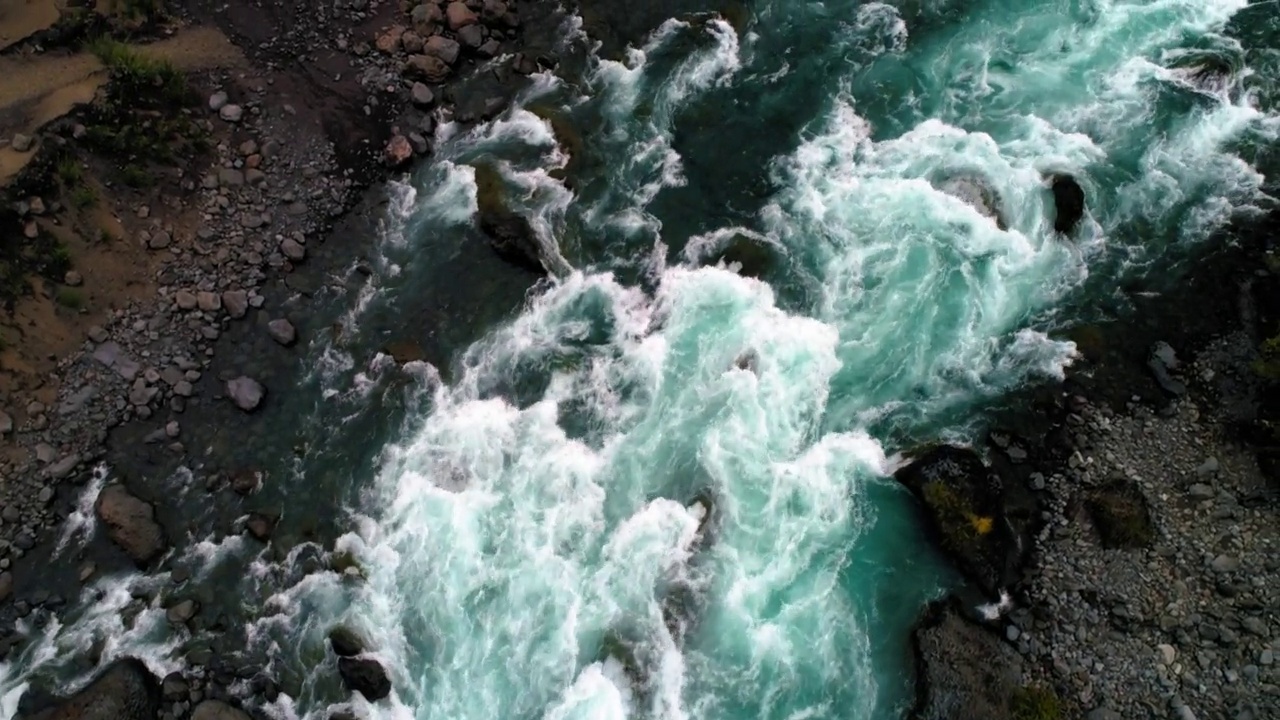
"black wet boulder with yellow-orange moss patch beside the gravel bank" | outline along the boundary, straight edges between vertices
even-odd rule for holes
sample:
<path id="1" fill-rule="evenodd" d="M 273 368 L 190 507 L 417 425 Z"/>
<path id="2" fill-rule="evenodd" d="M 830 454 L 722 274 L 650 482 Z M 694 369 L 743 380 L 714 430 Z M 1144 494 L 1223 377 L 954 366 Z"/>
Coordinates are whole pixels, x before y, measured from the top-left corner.
<path id="1" fill-rule="evenodd" d="M 942 548 L 983 592 L 996 598 L 1018 579 L 1025 544 L 1006 518 L 1006 483 L 978 454 L 936 447 L 895 477 L 915 493 Z"/>

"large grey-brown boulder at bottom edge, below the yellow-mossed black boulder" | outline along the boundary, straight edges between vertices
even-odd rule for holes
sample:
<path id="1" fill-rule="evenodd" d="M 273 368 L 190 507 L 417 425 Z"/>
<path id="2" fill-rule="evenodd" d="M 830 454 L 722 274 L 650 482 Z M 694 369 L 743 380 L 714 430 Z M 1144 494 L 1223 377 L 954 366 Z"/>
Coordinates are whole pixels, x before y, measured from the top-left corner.
<path id="1" fill-rule="evenodd" d="M 995 633 L 966 621 L 950 605 L 934 603 L 911 635 L 916 691 L 913 717 L 995 720 L 1014 717 L 1023 661 Z"/>

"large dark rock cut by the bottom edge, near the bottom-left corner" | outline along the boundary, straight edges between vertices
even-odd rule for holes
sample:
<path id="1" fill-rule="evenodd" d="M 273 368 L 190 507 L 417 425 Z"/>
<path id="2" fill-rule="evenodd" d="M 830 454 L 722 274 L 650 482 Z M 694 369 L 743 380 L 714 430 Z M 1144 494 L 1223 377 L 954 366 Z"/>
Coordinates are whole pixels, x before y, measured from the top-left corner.
<path id="1" fill-rule="evenodd" d="M 140 660 L 111 664 L 81 692 L 29 720 L 155 720 L 160 712 L 160 682 Z"/>

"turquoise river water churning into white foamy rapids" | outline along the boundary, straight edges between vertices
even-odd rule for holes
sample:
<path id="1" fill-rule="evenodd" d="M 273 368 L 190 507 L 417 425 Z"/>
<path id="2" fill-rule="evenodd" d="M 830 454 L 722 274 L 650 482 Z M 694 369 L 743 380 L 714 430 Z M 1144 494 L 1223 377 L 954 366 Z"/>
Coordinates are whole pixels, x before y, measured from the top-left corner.
<path id="1" fill-rule="evenodd" d="M 906 632 L 952 578 L 893 455 L 1060 377 L 1074 347 L 1050 331 L 1073 307 L 1262 201 L 1242 158 L 1276 120 L 1248 68 L 1275 32 L 1224 35 L 1244 6 L 762 0 L 737 28 L 673 19 L 622 60 L 566 60 L 493 123 L 447 127 L 343 301 L 348 340 L 310 351 L 308 432 L 333 450 L 296 479 L 305 502 L 349 502 L 335 552 L 364 579 L 280 570 L 306 546 L 188 551 L 252 569 L 268 610 L 248 641 L 285 691 L 266 710 L 343 698 L 324 650 L 343 621 L 392 673 L 369 716 L 902 716 Z M 572 18 L 564 35 L 586 44 Z M 1197 76 L 1210 60 L 1229 72 Z M 442 259 L 479 242 L 477 163 L 553 278 L 406 384 L 358 348 L 458 282 Z M 1048 173 L 1085 190 L 1070 238 Z M 732 242 L 772 258 L 759 278 L 710 264 Z M 180 664 L 152 625 L 125 637 L 115 653 Z"/>

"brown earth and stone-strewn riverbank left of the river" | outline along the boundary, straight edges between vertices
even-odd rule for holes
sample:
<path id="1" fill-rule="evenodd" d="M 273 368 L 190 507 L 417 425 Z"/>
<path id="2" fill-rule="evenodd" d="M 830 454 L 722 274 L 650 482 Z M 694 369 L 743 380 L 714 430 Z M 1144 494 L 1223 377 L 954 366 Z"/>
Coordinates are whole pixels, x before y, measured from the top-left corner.
<path id="1" fill-rule="evenodd" d="M 237 475 L 236 448 L 212 438 L 252 432 L 259 411 L 296 386 L 305 368 L 294 347 L 321 332 L 308 320 L 314 299 L 364 282 L 357 261 L 385 201 L 378 181 L 429 155 L 438 124 L 500 113 L 531 72 L 553 64 L 556 10 L 518 0 L 218 10 L 191 3 L 141 20 L 74 10 L 13 46 L 23 61 L 87 58 L 84 33 L 65 32 L 83 26 L 111 37 L 115 54 L 93 46 L 102 58 L 95 100 L 51 120 L 13 115 L 22 132 L 5 149 L 23 165 L 6 222 L 32 243 L 49 237 L 50 247 L 68 250 L 58 250 L 60 266 L 35 268 L 45 277 L 14 293 L 4 331 L 12 341 L 0 395 L 4 655 L 20 653 L 82 585 L 132 566 L 168 570 L 173 583 L 137 597 L 134 615 L 159 605 L 174 632 L 224 621 L 204 620 L 189 571 L 166 566 L 170 546 L 192 528 L 170 507 L 165 480 L 196 468 L 211 493 L 202 521 L 219 534 L 270 538 L 280 509 L 246 507 L 260 478 Z M 197 36 L 218 38 L 224 61 L 184 70 L 159 54 L 160 38 L 180 53 L 183 38 Z M 156 133 L 159 142 L 143 147 L 129 136 L 123 150 L 136 183 L 118 173 L 122 156 L 91 142 L 105 126 L 96 122 L 104 106 L 127 120 L 111 128 L 113 147 L 124 142 L 119 128 L 169 118 L 140 114 L 123 86 L 128 73 L 173 78 L 186 102 L 174 109 L 174 127 L 198 140 L 178 149 Z M 91 192 L 92 202 L 77 200 Z M 63 233 L 70 240 L 59 245 Z M 105 272 L 106 259 L 127 272 Z M 47 342 L 59 333 L 61 346 Z M 104 461 L 110 478 L 93 493 Z M 88 514 L 105 532 L 77 548 Z M 81 660 L 86 671 L 97 662 Z M 230 689 L 243 669 L 209 651 L 187 661 L 155 688 L 138 679 L 145 669 L 116 664 L 78 701 L 33 689 L 20 712 L 241 717 L 214 701 L 243 697 L 246 688 Z M 271 678 L 256 670 L 248 678 L 250 692 L 274 700 Z M 116 685 L 137 702 L 111 710 L 92 700 Z"/>

